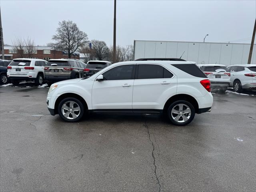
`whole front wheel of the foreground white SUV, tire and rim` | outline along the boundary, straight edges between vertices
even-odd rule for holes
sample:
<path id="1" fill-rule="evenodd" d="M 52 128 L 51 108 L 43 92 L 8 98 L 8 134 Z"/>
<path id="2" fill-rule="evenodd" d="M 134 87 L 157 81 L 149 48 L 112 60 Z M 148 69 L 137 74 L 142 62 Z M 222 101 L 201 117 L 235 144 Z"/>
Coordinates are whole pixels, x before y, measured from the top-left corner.
<path id="1" fill-rule="evenodd" d="M 78 122 L 84 115 L 84 106 L 76 98 L 65 98 L 58 105 L 58 113 L 66 122 Z"/>

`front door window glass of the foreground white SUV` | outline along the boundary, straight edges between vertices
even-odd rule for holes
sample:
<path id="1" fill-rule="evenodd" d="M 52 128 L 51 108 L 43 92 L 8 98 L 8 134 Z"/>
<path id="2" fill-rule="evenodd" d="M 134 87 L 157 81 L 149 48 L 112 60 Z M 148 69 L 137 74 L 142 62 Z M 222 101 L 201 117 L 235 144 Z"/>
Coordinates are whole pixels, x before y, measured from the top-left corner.
<path id="1" fill-rule="evenodd" d="M 104 80 L 129 80 L 134 78 L 135 65 L 122 65 L 104 72 Z"/>

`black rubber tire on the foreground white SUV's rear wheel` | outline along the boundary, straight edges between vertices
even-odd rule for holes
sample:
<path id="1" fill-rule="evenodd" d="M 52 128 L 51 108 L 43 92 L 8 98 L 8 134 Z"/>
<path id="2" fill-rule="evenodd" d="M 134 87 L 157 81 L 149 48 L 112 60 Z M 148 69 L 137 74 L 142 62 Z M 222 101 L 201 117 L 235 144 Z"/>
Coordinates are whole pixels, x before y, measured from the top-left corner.
<path id="1" fill-rule="evenodd" d="M 186 111 L 189 108 L 190 109 L 190 115 L 189 115 L 189 113 L 180 112 L 180 109 L 178 109 L 179 106 L 177 106 L 178 104 L 183 104 L 182 112 L 183 112 L 183 110 Z M 188 108 L 186 106 L 188 106 Z M 177 113 L 177 116 L 176 116 L 176 113 L 172 113 L 172 109 L 174 109 L 174 111 L 179 111 L 180 114 Z M 172 104 L 170 104 L 170 106 L 167 110 L 167 115 L 168 115 L 168 118 L 170 119 L 170 121 L 172 122 L 172 124 L 178 125 L 178 126 L 184 126 L 184 125 L 187 125 L 190 122 L 192 122 L 192 120 L 194 119 L 195 108 L 188 101 L 178 100 L 178 101 L 175 101 Z M 188 116 L 189 116 L 189 118 L 186 121 L 184 121 L 184 117 L 187 118 Z M 176 119 L 176 117 L 178 117 L 178 119 Z M 176 119 L 176 120 L 174 120 L 174 119 Z M 178 122 L 178 121 L 180 121 L 180 122 Z M 184 122 L 182 122 L 182 121 L 184 121 Z"/>

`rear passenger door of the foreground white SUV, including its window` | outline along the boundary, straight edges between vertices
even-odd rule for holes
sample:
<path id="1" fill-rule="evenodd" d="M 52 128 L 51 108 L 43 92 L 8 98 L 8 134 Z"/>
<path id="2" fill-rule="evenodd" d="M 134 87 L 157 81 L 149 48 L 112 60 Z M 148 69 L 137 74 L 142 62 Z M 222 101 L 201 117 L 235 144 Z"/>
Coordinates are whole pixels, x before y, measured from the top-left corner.
<path id="1" fill-rule="evenodd" d="M 137 64 L 132 108 L 162 109 L 162 103 L 171 93 L 176 94 L 177 77 L 158 64 Z"/>

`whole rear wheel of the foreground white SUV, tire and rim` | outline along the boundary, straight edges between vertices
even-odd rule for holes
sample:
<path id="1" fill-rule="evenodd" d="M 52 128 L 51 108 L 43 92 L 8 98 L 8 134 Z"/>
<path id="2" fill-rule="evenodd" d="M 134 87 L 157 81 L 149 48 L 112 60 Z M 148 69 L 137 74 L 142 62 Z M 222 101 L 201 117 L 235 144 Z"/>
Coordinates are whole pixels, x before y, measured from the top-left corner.
<path id="1" fill-rule="evenodd" d="M 195 109 L 190 102 L 178 100 L 170 104 L 167 115 L 174 125 L 184 126 L 194 119 Z"/>

